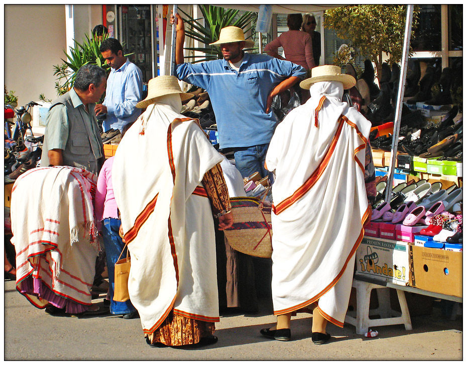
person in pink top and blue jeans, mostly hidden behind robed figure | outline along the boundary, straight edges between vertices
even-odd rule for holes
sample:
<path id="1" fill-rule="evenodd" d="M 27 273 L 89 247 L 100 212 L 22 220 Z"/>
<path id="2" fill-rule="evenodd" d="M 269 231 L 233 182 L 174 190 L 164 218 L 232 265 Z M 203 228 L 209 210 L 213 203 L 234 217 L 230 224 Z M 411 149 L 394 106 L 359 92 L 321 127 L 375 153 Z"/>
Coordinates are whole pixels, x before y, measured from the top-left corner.
<path id="1" fill-rule="evenodd" d="M 107 159 L 102 165 L 97 178 L 97 189 L 94 203 L 94 212 L 97 219 L 98 229 L 102 234 L 107 260 L 108 271 L 108 296 L 110 297 L 110 313 L 123 314 L 123 318 L 138 318 L 138 312 L 130 300 L 116 302 L 113 300 L 114 266 L 119 259 L 125 244 L 119 235 L 121 220 L 119 219 L 118 207 L 112 187 L 112 164 L 113 157 Z M 102 223 L 101 223 L 102 222 Z M 126 252 L 122 257 L 126 256 Z"/>

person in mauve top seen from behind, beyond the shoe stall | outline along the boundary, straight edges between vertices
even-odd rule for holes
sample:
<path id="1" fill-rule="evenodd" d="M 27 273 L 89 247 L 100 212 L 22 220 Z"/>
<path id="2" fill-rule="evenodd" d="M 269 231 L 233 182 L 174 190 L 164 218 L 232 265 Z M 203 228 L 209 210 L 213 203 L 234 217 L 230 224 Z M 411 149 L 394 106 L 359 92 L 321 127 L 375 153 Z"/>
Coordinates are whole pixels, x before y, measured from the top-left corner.
<path id="1" fill-rule="evenodd" d="M 309 70 L 316 66 L 313 58 L 313 41 L 308 33 L 300 31 L 302 20 L 301 14 L 289 14 L 287 16 L 289 30 L 268 43 L 264 48 L 264 52 L 272 57 L 303 66 L 310 75 Z M 281 46 L 284 49 L 285 58 L 277 53 L 278 48 Z M 300 88 L 298 82 L 293 88 L 301 96 L 302 104 L 310 97 L 310 91 Z"/>

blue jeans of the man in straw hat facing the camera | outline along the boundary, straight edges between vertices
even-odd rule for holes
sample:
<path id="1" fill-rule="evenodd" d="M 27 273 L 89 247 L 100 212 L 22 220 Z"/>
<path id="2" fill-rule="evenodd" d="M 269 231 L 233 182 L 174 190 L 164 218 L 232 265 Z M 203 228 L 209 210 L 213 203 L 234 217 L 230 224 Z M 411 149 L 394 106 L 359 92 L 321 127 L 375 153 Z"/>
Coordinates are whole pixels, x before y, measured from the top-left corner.
<path id="1" fill-rule="evenodd" d="M 264 168 L 268 147 L 269 144 L 264 144 L 234 149 L 235 167 L 240 171 L 242 177 L 248 177 L 257 171 L 261 177 L 268 176 L 268 170 Z"/>

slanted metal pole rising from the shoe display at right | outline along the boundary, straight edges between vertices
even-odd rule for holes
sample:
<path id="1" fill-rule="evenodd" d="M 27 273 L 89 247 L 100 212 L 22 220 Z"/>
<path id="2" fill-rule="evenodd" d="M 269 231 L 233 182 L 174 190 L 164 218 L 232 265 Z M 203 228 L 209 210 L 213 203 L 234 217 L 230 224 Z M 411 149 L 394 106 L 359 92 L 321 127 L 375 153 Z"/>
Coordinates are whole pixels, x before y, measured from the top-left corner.
<path id="1" fill-rule="evenodd" d="M 399 78 L 399 95 L 396 104 L 396 113 L 394 117 L 394 130 L 392 135 L 392 146 L 391 146 L 391 162 L 389 164 L 389 177 L 388 185 L 384 200 L 389 202 L 391 200 L 392 193 L 392 182 L 394 179 L 394 167 L 396 165 L 396 154 L 397 144 L 399 142 L 399 129 L 401 125 L 402 115 L 402 99 L 404 98 L 405 91 L 405 78 L 407 76 L 407 61 L 409 58 L 409 45 L 410 45 L 410 32 L 412 30 L 412 18 L 413 18 L 413 5 L 407 5 L 407 18 L 405 21 L 405 37 L 404 37 L 404 48 L 402 51 L 402 62 L 401 62 L 401 76 Z"/>

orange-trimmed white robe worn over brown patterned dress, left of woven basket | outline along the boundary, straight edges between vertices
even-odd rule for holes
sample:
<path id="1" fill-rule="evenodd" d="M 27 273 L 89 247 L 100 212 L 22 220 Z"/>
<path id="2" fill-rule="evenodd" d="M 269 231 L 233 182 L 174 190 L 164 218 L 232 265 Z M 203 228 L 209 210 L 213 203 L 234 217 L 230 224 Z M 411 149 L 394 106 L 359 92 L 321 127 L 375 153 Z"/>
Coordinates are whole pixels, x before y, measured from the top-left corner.
<path id="1" fill-rule="evenodd" d="M 132 257 L 129 294 L 145 333 L 172 309 L 219 320 L 214 223 L 201 180 L 222 156 L 199 125 L 175 111 L 180 108 L 178 94 L 148 106 L 113 162 L 113 190 Z"/>

